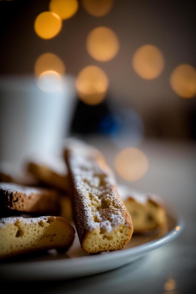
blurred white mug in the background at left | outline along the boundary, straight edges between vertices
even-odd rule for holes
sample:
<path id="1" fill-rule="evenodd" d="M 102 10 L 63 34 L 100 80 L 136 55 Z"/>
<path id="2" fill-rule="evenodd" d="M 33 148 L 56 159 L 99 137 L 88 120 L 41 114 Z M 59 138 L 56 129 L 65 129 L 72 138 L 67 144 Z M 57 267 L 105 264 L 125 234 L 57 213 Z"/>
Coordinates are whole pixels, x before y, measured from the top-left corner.
<path id="1" fill-rule="evenodd" d="M 20 166 L 31 154 L 59 154 L 76 104 L 74 78 L 42 91 L 34 76 L 0 78 L 0 160 Z"/>

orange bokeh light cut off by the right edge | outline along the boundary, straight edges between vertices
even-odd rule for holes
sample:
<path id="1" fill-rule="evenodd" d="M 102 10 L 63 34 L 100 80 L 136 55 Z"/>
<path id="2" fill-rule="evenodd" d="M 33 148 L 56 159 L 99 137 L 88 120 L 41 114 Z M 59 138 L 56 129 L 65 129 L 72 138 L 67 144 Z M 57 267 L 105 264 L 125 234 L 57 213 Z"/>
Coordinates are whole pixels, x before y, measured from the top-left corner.
<path id="1" fill-rule="evenodd" d="M 183 98 L 192 98 L 196 95 L 196 70 L 189 64 L 177 66 L 170 77 L 171 88 Z"/>

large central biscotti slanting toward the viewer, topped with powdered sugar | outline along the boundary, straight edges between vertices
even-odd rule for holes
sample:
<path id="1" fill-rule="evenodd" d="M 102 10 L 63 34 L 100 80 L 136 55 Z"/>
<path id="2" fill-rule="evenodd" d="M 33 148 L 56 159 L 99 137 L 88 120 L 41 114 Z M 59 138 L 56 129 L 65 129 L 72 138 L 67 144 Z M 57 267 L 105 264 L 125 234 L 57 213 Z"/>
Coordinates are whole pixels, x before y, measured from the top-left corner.
<path id="1" fill-rule="evenodd" d="M 82 249 L 87 253 L 123 249 L 133 232 L 131 216 L 116 192 L 114 176 L 102 155 L 89 146 L 69 146 L 65 159 Z"/>

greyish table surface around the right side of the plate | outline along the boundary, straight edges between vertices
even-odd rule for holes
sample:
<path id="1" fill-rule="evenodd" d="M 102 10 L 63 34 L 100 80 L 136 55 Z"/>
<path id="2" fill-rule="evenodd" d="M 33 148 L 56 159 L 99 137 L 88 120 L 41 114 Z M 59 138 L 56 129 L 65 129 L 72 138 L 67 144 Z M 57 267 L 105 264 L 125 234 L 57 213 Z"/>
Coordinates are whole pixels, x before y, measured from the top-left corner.
<path id="1" fill-rule="evenodd" d="M 114 168 L 118 151 L 131 142 L 115 142 L 90 138 L 108 164 Z M 188 142 L 144 141 L 137 145 L 148 158 L 146 175 L 136 182 L 121 184 L 161 195 L 179 211 L 185 220 L 185 229 L 179 238 L 147 254 L 136 262 L 113 271 L 66 281 L 22 283 L 22 289 L 35 293 L 195 293 L 195 203 L 196 203 L 196 145 Z M 13 289 L 18 284 L 10 284 Z"/>

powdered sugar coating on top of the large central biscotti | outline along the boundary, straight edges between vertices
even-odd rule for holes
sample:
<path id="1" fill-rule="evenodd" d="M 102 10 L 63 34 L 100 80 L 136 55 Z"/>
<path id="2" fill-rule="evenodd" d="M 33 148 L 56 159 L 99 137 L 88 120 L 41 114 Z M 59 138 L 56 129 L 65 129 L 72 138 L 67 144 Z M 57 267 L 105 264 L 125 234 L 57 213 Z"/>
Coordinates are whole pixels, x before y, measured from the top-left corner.
<path id="1" fill-rule="evenodd" d="M 76 153 L 70 152 L 69 164 L 76 189 L 76 218 L 83 223 L 80 233 L 83 234 L 84 229 L 110 232 L 125 224 L 123 212 L 126 208 L 113 187 L 113 175 L 94 158 Z"/>

